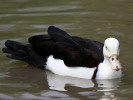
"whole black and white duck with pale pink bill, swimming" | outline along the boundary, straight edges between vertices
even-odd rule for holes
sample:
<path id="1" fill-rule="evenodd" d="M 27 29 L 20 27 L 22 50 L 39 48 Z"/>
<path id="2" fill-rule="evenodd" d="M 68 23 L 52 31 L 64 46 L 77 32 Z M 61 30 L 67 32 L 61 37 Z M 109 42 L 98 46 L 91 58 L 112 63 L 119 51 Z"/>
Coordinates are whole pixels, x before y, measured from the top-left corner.
<path id="1" fill-rule="evenodd" d="M 2 51 L 8 58 L 57 75 L 83 79 L 116 79 L 122 76 L 116 38 L 107 38 L 103 44 L 70 36 L 58 27 L 49 26 L 48 34 L 31 36 L 28 42 L 6 40 Z"/>

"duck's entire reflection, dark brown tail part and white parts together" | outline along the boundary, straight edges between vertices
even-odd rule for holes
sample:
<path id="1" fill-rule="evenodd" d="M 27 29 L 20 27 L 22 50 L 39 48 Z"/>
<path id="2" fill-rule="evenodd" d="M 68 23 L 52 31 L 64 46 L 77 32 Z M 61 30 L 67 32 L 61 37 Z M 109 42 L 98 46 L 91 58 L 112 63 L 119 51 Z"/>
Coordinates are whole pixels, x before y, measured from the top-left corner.
<path id="1" fill-rule="evenodd" d="M 45 92 L 47 90 L 57 90 L 59 93 L 64 93 L 74 98 L 82 98 L 82 100 L 99 100 L 99 98 L 100 100 L 117 100 L 118 97 L 115 92 L 118 92 L 118 87 L 121 81 L 120 79 L 87 80 L 66 77 L 53 74 L 49 71 L 38 70 L 33 67 L 12 68 L 9 70 L 9 76 L 10 77 L 6 78 L 8 79 L 8 84 L 1 84 L 2 86 L 8 85 L 9 90 L 12 89 L 12 84 L 14 84 L 13 87 L 17 92 L 20 91 L 20 86 L 30 92 L 34 91 L 37 93 L 44 90 Z M 25 91 L 22 91 L 22 93 L 25 93 Z"/>

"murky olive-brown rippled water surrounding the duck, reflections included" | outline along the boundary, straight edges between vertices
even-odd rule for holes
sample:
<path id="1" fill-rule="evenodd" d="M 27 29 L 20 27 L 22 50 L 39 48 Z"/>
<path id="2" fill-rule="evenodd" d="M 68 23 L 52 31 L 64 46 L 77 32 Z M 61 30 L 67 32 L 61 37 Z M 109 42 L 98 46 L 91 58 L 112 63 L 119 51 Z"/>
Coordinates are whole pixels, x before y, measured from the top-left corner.
<path id="1" fill-rule="evenodd" d="M 116 80 L 84 80 L 43 71 L 11 60 L 0 51 L 1 100 L 132 100 L 132 0 L 1 0 L 0 48 L 7 39 L 28 43 L 55 25 L 71 35 L 104 42 L 120 41 L 123 76 Z"/>

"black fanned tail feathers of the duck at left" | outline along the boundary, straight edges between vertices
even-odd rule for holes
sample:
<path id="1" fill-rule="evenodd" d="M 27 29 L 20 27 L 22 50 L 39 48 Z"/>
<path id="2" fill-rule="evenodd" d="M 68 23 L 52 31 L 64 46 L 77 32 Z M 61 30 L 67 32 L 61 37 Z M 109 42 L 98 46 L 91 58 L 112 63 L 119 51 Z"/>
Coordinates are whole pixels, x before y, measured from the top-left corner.
<path id="1" fill-rule="evenodd" d="M 8 58 L 24 61 L 28 64 L 38 68 L 45 68 L 46 60 L 40 57 L 29 44 L 22 44 L 20 42 L 7 40 L 5 42 L 6 48 L 3 48 L 4 53 L 8 53 Z"/>

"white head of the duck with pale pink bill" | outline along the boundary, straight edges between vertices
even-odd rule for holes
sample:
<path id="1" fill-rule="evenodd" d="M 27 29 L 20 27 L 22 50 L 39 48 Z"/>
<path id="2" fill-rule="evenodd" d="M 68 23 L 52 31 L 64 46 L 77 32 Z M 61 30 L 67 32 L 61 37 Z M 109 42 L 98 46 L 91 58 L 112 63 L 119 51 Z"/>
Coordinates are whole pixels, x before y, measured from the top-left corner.
<path id="1" fill-rule="evenodd" d="M 104 60 L 109 61 L 113 70 L 119 71 L 119 41 L 115 38 L 107 38 L 103 47 Z"/>

